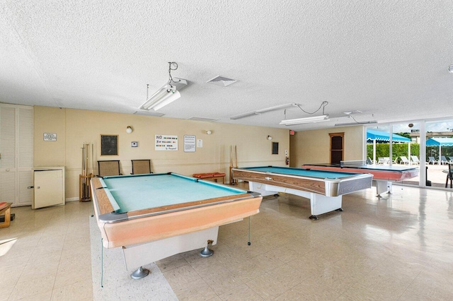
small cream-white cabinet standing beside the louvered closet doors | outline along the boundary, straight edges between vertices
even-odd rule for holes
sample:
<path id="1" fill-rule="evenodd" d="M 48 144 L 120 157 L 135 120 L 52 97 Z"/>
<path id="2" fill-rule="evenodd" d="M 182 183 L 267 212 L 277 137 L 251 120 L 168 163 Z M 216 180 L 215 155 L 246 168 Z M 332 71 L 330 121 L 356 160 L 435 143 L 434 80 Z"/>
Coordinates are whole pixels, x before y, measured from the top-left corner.
<path id="1" fill-rule="evenodd" d="M 35 167 L 32 209 L 64 205 L 64 167 Z"/>

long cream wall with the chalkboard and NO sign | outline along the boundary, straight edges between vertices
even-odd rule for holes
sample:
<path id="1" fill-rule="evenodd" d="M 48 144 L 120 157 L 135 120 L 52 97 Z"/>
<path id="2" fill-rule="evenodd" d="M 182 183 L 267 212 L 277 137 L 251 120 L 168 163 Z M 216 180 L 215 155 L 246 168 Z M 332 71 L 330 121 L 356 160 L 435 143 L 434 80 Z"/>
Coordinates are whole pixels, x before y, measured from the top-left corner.
<path id="1" fill-rule="evenodd" d="M 195 122 L 165 117 L 146 117 L 88 110 L 35 107 L 34 165 L 66 167 L 66 198 L 79 197 L 81 148 L 93 143 L 94 163 L 97 160 L 120 160 L 121 172 L 132 172 L 132 159 L 151 159 L 153 172 L 177 172 L 192 175 L 199 172 L 229 173 L 229 148 L 237 146 L 239 167 L 285 165 L 285 150 L 289 151 L 289 131 L 260 126 Z M 132 126 L 132 134 L 126 127 Z M 212 134 L 207 135 L 206 130 Z M 57 133 L 57 141 L 42 141 L 43 133 Z M 119 135 L 119 154 L 101 156 L 101 134 Z M 154 136 L 177 135 L 178 151 L 155 151 Z M 202 139 L 203 147 L 195 153 L 183 151 L 184 135 Z M 267 136 L 273 137 L 268 141 Z M 131 147 L 138 141 L 137 148 Z M 272 155 L 272 142 L 279 143 L 279 154 Z"/>

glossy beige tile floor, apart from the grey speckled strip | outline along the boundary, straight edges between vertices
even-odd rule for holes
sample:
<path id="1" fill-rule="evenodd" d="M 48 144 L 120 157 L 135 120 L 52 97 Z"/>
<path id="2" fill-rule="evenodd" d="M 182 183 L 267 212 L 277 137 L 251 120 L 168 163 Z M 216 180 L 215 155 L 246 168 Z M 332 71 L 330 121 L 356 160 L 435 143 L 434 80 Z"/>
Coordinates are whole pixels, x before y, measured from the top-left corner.
<path id="1" fill-rule="evenodd" d="M 344 196 L 343 209 L 313 221 L 308 200 L 266 197 L 251 218 L 251 246 L 244 220 L 219 229 L 214 256 L 186 252 L 150 266 L 179 300 L 453 300 L 451 191 L 395 185 L 377 199 L 367 189 Z M 91 203 L 13 213 L 0 229 L 0 240 L 19 237 L 0 257 L 0 300 L 91 300 Z M 108 273 L 133 285 L 124 266 Z M 107 291 L 103 300 L 130 297 Z"/>

